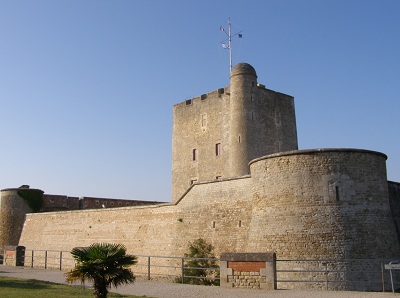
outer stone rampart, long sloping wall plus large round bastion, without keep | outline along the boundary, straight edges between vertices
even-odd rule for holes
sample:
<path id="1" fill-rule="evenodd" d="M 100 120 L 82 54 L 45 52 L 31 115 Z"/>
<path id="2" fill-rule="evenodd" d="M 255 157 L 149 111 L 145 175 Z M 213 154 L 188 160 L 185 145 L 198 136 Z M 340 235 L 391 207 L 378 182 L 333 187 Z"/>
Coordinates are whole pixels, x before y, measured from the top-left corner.
<path id="1" fill-rule="evenodd" d="M 182 256 L 189 241 L 204 238 L 217 255 L 370 259 L 339 269 L 345 280 L 371 280 L 368 269 L 399 257 L 385 161 L 382 153 L 357 149 L 273 154 L 253 160 L 251 175 L 192 185 L 176 204 L 27 214 L 19 244 L 70 250 L 118 242 L 132 254 Z M 296 268 L 321 270 L 310 266 Z M 349 282 L 336 289 L 376 285 Z"/>

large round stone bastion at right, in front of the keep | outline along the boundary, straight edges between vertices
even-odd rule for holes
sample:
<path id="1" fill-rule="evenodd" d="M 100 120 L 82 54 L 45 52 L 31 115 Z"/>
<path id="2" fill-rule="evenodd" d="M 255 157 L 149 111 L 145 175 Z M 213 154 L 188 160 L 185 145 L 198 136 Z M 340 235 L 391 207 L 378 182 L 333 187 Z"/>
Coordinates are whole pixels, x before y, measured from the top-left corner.
<path id="1" fill-rule="evenodd" d="M 276 252 L 278 259 L 327 260 L 278 263 L 280 270 L 316 271 L 306 278 L 313 283 L 280 288 L 381 288 L 381 262 L 397 259 L 399 253 L 385 160 L 372 151 L 321 149 L 274 154 L 251 163 L 250 250 Z M 318 273 L 328 268 L 336 273 Z M 305 279 L 301 273 L 278 278 Z M 320 282 L 327 279 L 332 280 L 329 285 Z"/>

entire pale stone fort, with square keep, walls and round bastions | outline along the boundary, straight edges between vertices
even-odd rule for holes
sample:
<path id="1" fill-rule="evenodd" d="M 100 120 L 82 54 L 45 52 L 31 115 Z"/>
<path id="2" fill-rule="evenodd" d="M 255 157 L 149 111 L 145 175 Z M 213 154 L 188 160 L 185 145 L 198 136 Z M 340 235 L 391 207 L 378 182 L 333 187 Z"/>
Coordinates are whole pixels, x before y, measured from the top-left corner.
<path id="1" fill-rule="evenodd" d="M 298 150 L 294 98 L 239 63 L 229 86 L 173 107 L 172 203 L 23 187 L 43 194 L 32 213 L 21 188 L 3 189 L 0 246 L 118 242 L 133 254 L 182 256 L 203 238 L 217 255 L 372 260 L 358 265 L 363 271 L 400 257 L 400 183 L 387 181 L 386 159 L 363 149 Z M 355 269 L 346 270 L 345 280 Z"/>

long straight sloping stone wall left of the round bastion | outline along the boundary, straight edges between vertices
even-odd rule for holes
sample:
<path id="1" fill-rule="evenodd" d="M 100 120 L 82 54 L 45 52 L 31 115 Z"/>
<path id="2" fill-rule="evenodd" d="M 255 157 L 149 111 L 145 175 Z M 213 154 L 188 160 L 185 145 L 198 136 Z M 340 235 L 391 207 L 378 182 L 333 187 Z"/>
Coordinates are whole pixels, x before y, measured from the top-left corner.
<path id="1" fill-rule="evenodd" d="M 177 205 L 27 214 L 20 245 L 70 250 L 118 242 L 134 254 L 182 256 L 188 241 L 202 237 L 217 253 L 241 251 L 250 224 L 250 182 L 244 177 L 196 184 Z"/>

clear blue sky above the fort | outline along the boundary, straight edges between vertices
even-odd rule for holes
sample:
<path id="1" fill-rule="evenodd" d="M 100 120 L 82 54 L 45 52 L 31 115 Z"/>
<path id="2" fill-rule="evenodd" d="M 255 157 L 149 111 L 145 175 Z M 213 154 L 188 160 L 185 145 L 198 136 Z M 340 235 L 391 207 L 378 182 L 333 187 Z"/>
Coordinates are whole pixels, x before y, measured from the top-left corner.
<path id="1" fill-rule="evenodd" d="M 400 2 L 0 0 L 0 188 L 170 201 L 172 106 L 233 63 L 295 97 L 300 149 L 388 155 L 400 181 Z"/>

